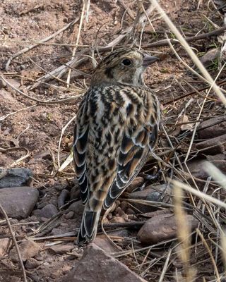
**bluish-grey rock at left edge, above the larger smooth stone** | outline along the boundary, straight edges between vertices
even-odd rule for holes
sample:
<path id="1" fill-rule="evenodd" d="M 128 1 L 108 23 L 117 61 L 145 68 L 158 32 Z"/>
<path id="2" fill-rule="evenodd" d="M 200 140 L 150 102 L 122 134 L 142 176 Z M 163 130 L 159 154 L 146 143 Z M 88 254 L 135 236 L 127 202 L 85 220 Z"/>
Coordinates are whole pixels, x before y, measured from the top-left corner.
<path id="1" fill-rule="evenodd" d="M 0 169 L 0 188 L 30 185 L 32 172 L 28 168 Z"/>

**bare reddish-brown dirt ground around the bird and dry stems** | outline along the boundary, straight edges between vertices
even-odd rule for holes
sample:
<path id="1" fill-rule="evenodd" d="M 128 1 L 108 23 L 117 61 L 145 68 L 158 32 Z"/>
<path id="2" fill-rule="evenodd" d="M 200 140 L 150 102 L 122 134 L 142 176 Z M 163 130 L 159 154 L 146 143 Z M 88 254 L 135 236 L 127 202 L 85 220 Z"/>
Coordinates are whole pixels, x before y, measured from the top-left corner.
<path id="1" fill-rule="evenodd" d="M 0 85 L 0 167 L 30 168 L 33 173 L 32 185 L 40 192 L 40 198 L 35 209 L 41 209 L 49 203 L 57 206 L 61 190 L 71 191 L 73 187 L 73 165 L 67 166 L 62 172 L 57 171 L 70 153 L 73 122 L 66 128 L 61 140 L 61 147 L 58 149 L 61 130 L 76 115 L 81 94 L 88 89 L 90 75 L 92 75 L 95 66 L 95 60 L 92 61 L 91 56 L 94 54 L 94 58 L 98 62 L 100 56 L 107 54 L 107 51 L 100 51 L 100 54 L 97 54 L 96 47 L 105 47 L 109 42 L 117 39 L 119 35 L 124 34 L 124 31 L 133 25 L 136 18 L 136 1 L 101 0 L 90 2 L 89 13 L 88 15 L 85 14 L 86 19 L 83 21 L 78 49 L 76 50 L 76 54 L 87 61 L 72 69 L 69 87 L 66 84 L 66 73 L 61 78 L 55 77 L 46 80 L 43 84 L 32 89 L 32 86 L 43 75 L 60 66 L 65 66 L 71 60 L 73 52 L 71 44 L 76 42 L 79 32 L 83 2 L 69 0 L 1 0 L 0 74 L 3 74 L 11 85 L 37 100 L 49 102 L 75 97 L 69 102 L 56 102 L 55 104 L 35 102 L 1 82 L 3 85 Z M 184 32 L 186 37 L 195 36 L 198 32 L 213 31 L 214 27 L 206 17 L 210 18 L 216 25 L 222 26 L 222 18 L 218 13 L 213 13 L 208 9 L 206 1 L 199 1 L 199 7 L 198 1 L 192 0 L 162 0 L 160 2 L 162 8 L 167 11 L 168 16 Z M 122 3 L 127 7 L 127 12 L 125 12 Z M 145 9 L 149 5 L 149 1 L 143 2 Z M 213 9 L 213 6 L 210 5 L 210 8 Z M 148 68 L 145 73 L 145 82 L 148 87 L 156 92 L 162 104 L 162 122 L 167 128 L 167 132 L 169 135 L 175 136 L 177 133 L 175 133 L 174 124 L 186 103 L 191 97 L 193 98 L 191 104 L 186 107 L 186 116 L 188 116 L 190 122 L 195 121 L 204 94 L 199 96 L 193 94 L 184 99 L 179 99 L 177 102 L 171 101 L 206 85 L 182 65 L 168 46 L 148 47 L 148 44 L 165 39 L 165 32 L 167 32 L 169 38 L 174 38 L 156 11 L 153 11 L 150 16 L 155 32 L 153 32 L 153 27 L 147 20 L 142 35 L 141 28 L 139 28 L 135 30 L 134 41 L 131 37 L 127 37 L 119 45 L 128 47 L 131 46 L 132 42 L 133 44 L 140 44 L 141 41 L 143 49 L 160 57 L 159 62 Z M 123 20 L 121 20 L 122 18 Z M 13 58 L 6 70 L 8 59 L 17 54 L 18 51 L 53 35 L 54 32 L 61 30 L 73 20 L 77 20 L 76 23 L 59 32 L 59 35 L 43 44 L 37 44 L 37 47 Z M 194 40 L 190 44 L 191 47 L 194 47 L 198 56 L 205 54 L 213 47 L 220 46 L 217 37 Z M 175 46 L 179 56 L 182 56 L 183 60 L 192 67 L 193 63 L 184 49 L 179 45 Z M 83 54 L 82 52 L 87 49 L 89 51 Z M 218 66 L 215 67 L 212 64 L 209 71 L 215 78 L 215 75 L 218 74 Z M 57 74 L 54 76 L 57 76 Z M 225 76 L 226 73 L 222 71 L 220 80 L 224 80 Z M 222 114 L 224 114 L 222 104 L 211 92 L 201 119 L 206 120 Z M 191 138 L 191 135 L 188 138 Z M 184 142 L 181 145 L 181 152 L 187 151 L 188 144 L 189 142 Z M 161 132 L 160 147 L 164 147 L 164 145 L 165 133 Z M 35 215 L 31 215 L 28 219 L 18 220 L 18 223 L 31 221 L 43 222 L 42 219 L 37 219 Z M 40 226 L 40 223 L 21 224 L 16 226 L 14 230 L 17 235 L 20 235 L 21 240 L 29 235 L 34 228 Z M 79 224 L 80 219 L 70 219 L 69 216 L 66 217 L 64 214 L 49 233 L 42 235 L 72 232 L 79 227 Z M 7 234 L 7 228 L 4 228 L 3 232 Z M 133 231 L 130 235 L 132 234 Z M 74 252 L 78 253 L 78 257 L 69 254 L 53 254 L 47 250 L 46 244 L 49 242 L 48 240 L 41 241 L 42 252 L 36 259 L 42 263 L 35 269 L 28 270 L 29 281 L 61 281 L 61 278 L 67 274 L 82 252 L 81 248 L 76 247 Z M 73 238 L 69 238 L 67 242 L 73 242 Z M 129 247 L 129 245 L 126 245 L 124 248 L 127 250 L 126 248 Z M 158 253 L 163 252 L 163 249 L 158 250 Z M 201 251 L 200 249 L 199 252 Z M 153 259 L 153 255 L 151 257 Z M 143 271 L 142 267 L 140 269 L 136 267 L 133 257 L 121 257 L 120 260 L 137 274 Z M 160 278 L 159 269 L 162 269 L 163 264 L 164 262 L 160 262 L 160 264 L 155 264 L 148 269 L 144 278 L 147 281 L 158 281 Z M 174 281 L 174 271 L 175 267 L 178 266 L 177 264 L 179 262 L 175 259 L 169 266 L 164 281 Z M 199 260 L 194 259 L 194 264 L 197 265 L 198 269 L 196 281 L 210 281 L 210 274 L 205 274 L 205 270 L 203 270 L 203 266 L 211 265 L 212 267 L 210 259 L 205 257 L 201 257 Z M 16 275 L 18 268 L 18 264 L 12 262 L 10 257 L 1 258 L 0 281 L 23 281 Z M 4 271 L 2 272 L 1 269 Z M 213 271 L 211 275 L 213 276 Z M 204 280 L 204 276 L 206 280 Z"/>

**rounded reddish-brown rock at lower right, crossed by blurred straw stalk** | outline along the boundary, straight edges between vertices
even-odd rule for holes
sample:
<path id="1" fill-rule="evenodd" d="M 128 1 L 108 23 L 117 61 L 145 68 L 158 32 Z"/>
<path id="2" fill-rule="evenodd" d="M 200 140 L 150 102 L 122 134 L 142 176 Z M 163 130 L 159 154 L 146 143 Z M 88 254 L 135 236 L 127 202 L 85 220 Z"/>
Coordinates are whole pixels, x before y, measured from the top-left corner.
<path id="1" fill-rule="evenodd" d="M 186 223 L 191 230 L 198 227 L 198 221 L 194 216 L 186 215 Z M 159 214 L 145 221 L 138 232 L 138 240 L 144 244 L 156 244 L 164 240 L 177 237 L 177 222 L 173 214 Z"/>

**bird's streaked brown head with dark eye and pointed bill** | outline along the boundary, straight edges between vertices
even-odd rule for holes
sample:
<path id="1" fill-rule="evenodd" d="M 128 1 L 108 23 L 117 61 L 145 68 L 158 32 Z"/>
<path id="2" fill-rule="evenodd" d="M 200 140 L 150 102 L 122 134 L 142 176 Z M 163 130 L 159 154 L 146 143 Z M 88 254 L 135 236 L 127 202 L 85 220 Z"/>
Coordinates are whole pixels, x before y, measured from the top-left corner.
<path id="1" fill-rule="evenodd" d="M 143 85 L 143 71 L 155 61 L 156 57 L 143 54 L 136 49 L 113 51 L 95 68 L 91 85 L 109 83 Z"/>

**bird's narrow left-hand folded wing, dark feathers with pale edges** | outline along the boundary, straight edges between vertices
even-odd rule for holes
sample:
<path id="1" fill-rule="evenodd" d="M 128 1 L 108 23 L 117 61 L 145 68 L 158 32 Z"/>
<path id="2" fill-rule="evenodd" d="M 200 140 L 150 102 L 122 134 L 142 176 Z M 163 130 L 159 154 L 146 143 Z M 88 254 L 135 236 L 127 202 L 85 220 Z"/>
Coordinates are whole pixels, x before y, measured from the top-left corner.
<path id="1" fill-rule="evenodd" d="M 74 141 L 73 141 L 73 159 L 75 164 L 76 178 L 81 191 L 81 199 L 83 204 L 88 201 L 88 177 L 86 175 L 86 147 L 88 141 L 89 124 L 88 116 L 85 109 L 85 99 L 81 102 L 81 107 L 78 111 L 76 125 L 74 128 Z"/>

